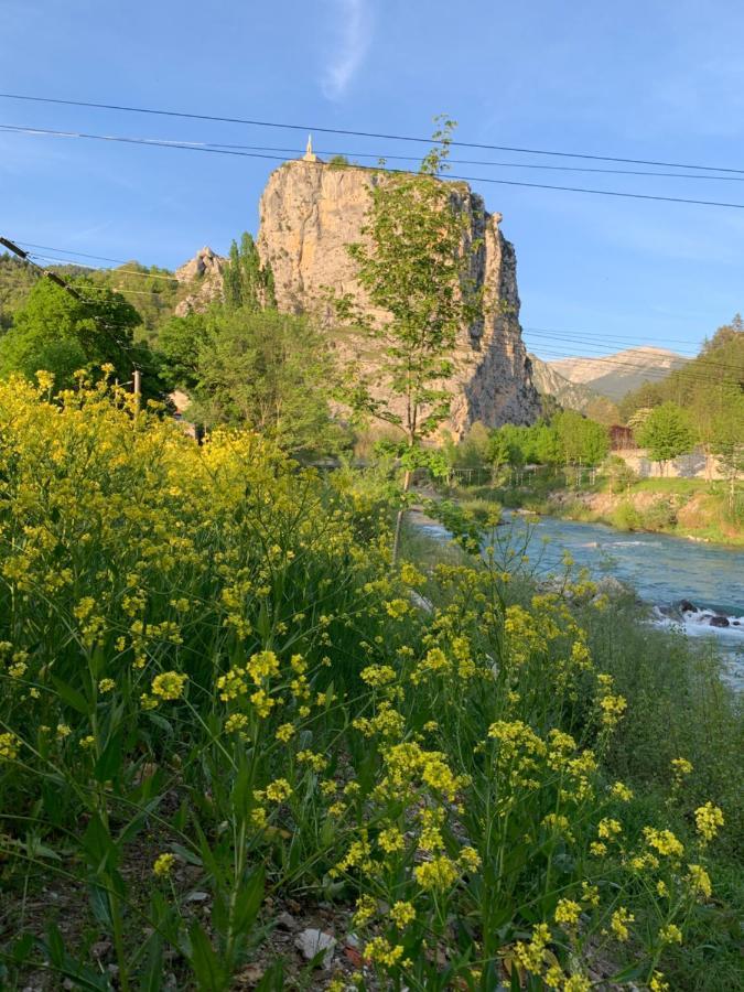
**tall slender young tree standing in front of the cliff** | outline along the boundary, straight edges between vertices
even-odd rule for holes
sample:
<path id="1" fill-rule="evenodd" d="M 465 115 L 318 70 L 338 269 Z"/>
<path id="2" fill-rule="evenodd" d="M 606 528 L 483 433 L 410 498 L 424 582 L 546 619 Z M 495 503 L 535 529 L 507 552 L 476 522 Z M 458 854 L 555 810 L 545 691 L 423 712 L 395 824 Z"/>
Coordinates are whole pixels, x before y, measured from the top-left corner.
<path id="1" fill-rule="evenodd" d="M 379 353 L 376 373 L 355 370 L 344 399 L 357 417 L 376 418 L 400 430 L 403 494 L 410 487 L 417 449 L 450 413 L 446 380 L 453 371 L 456 335 L 479 310 L 470 279 L 477 246 L 465 238 L 466 216 L 456 190 L 439 177 L 453 127 L 453 121 L 443 121 L 434 134 L 438 144 L 418 174 L 375 174 L 365 240 L 348 246 L 371 306 L 360 308 L 349 294 L 334 301 L 357 338 Z M 393 557 L 403 513 L 405 499 Z"/>

